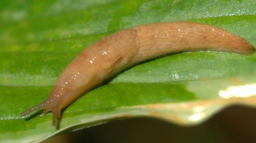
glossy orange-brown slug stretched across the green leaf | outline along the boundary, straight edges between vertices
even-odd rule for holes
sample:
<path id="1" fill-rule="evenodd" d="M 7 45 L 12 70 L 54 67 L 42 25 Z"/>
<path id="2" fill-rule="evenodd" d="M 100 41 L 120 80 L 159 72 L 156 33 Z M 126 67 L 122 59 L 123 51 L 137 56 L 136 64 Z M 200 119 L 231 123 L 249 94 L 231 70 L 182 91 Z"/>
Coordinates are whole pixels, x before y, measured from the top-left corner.
<path id="1" fill-rule="evenodd" d="M 120 30 L 81 52 L 60 74 L 50 96 L 21 113 L 52 111 L 52 125 L 60 111 L 118 72 L 139 62 L 171 53 L 200 50 L 252 54 L 254 47 L 217 27 L 193 22 L 162 22 Z"/>

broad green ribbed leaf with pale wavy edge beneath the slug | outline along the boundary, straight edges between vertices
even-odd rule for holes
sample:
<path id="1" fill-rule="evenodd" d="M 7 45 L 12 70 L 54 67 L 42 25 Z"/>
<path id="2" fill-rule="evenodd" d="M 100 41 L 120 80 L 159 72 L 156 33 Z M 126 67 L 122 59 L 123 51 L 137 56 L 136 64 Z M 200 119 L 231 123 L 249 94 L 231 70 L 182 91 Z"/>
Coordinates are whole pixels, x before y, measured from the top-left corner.
<path id="1" fill-rule="evenodd" d="M 102 37 L 152 22 L 190 21 L 223 28 L 256 46 L 255 7 L 254 0 L 2 0 L 1 141 L 39 142 L 121 117 L 191 125 L 233 103 L 255 106 L 256 54 L 194 52 L 124 71 L 64 109 L 58 129 L 51 113 L 20 116 L 46 99 L 68 63 Z"/>

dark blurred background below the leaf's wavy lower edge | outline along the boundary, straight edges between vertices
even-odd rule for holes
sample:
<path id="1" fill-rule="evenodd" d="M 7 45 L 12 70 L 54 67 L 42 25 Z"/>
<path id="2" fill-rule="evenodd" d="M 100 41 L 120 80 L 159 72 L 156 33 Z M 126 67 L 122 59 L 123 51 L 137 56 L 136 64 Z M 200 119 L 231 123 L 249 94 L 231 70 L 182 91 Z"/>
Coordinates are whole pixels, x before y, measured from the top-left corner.
<path id="1" fill-rule="evenodd" d="M 255 128 L 256 109 L 233 105 L 199 125 L 137 117 L 57 135 L 43 143 L 256 143 Z"/>

